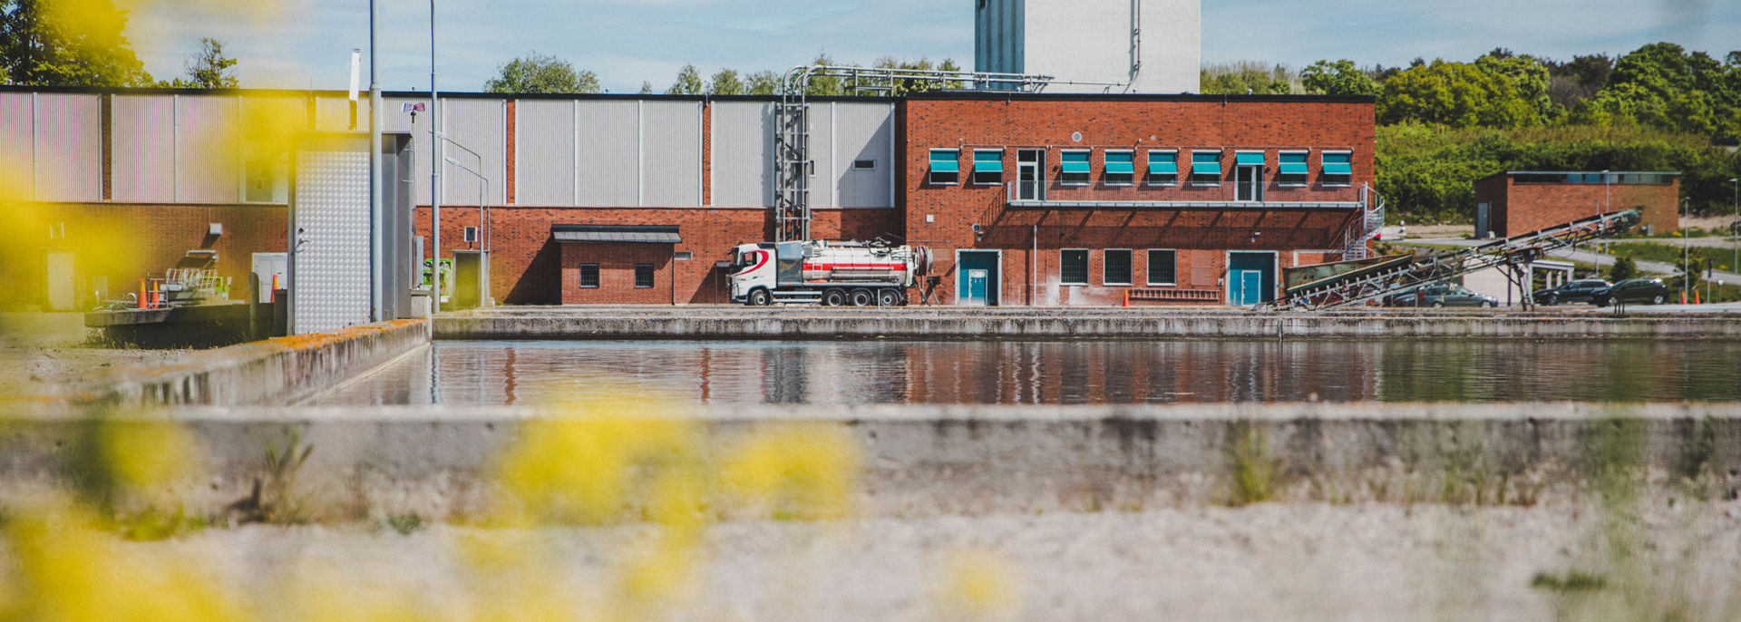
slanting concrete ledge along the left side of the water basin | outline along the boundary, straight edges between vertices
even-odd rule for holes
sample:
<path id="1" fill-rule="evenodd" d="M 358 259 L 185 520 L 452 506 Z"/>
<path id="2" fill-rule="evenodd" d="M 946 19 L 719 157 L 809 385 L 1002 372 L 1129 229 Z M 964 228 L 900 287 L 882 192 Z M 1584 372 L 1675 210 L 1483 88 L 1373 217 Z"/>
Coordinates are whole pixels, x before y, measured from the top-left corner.
<path id="1" fill-rule="evenodd" d="M 421 319 L 280 336 L 192 352 L 171 364 L 117 368 L 68 396 L 66 404 L 291 404 L 366 375 L 430 340 Z"/>

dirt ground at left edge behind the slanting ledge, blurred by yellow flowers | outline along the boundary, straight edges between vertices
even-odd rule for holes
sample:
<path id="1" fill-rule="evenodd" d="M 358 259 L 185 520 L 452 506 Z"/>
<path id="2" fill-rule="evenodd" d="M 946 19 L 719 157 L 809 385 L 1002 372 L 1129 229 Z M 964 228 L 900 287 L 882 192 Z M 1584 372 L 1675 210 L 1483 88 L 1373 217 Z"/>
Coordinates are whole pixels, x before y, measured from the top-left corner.
<path id="1" fill-rule="evenodd" d="M 0 314 L 0 401 L 54 394 L 106 368 L 162 362 L 185 352 L 101 347 L 84 314 Z"/>

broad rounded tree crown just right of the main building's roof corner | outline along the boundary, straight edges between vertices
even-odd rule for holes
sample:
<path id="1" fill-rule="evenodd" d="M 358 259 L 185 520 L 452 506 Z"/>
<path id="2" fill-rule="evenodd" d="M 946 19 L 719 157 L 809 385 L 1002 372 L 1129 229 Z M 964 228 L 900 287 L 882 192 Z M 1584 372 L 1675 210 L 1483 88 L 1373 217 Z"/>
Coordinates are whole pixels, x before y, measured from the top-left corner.
<path id="1" fill-rule="evenodd" d="M 1450 127 L 1522 127 L 1541 120 L 1504 75 L 1469 63 L 1415 64 L 1384 82 L 1379 122 Z"/>

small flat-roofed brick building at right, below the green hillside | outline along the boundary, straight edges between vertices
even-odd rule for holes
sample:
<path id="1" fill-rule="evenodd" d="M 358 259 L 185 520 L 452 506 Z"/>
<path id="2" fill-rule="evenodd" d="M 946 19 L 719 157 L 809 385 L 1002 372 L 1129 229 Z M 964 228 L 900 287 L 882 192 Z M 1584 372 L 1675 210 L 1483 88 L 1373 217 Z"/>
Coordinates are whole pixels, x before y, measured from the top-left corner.
<path id="1" fill-rule="evenodd" d="M 1475 232 L 1511 237 L 1637 209 L 1654 233 L 1680 228 L 1680 172 L 1508 171 L 1475 181 Z"/>

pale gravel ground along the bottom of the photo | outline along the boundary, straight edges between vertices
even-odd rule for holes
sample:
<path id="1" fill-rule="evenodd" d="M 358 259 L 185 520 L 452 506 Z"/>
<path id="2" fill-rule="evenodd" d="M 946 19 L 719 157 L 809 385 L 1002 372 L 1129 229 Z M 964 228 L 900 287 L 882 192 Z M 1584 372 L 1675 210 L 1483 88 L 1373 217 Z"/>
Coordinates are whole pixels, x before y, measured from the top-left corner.
<path id="1" fill-rule="evenodd" d="M 1736 620 L 1741 504 L 1593 507 L 1260 504 L 1137 512 L 726 523 L 674 620 Z M 1644 528 L 1638 528 L 1642 524 Z M 479 617 L 531 585 L 597 605 L 648 526 L 486 530 L 244 526 L 127 544 L 219 571 L 259 612 L 298 594 L 373 594 L 420 615 Z M 498 547 L 479 547 L 479 544 Z M 514 544 L 514 547 L 507 547 Z M 475 566 L 467 551 L 524 551 Z M 148 571 L 151 568 L 141 568 Z M 1569 571 L 1596 589 L 1556 591 Z M 998 589 L 998 585 L 1005 585 Z M 263 589 L 270 592 L 263 594 Z M 399 594 L 399 596 L 388 596 Z M 588 596 L 590 594 L 590 596 Z M 963 605 L 980 594 L 984 608 Z M 482 603 L 482 605 L 481 605 Z M 381 605 L 381 603 L 376 603 Z M 324 601 L 322 606 L 346 606 Z M 526 605 L 529 606 L 529 605 Z M 458 613 L 456 613 L 458 612 Z M 987 613 L 982 617 L 968 615 Z"/>

